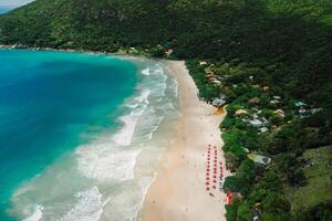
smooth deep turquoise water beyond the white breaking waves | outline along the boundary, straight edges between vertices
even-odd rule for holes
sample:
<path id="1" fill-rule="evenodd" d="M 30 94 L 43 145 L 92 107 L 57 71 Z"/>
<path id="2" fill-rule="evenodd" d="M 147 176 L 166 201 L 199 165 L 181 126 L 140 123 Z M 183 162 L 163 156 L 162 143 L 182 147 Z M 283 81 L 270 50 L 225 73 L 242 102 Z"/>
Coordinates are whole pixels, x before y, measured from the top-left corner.
<path id="1" fill-rule="evenodd" d="M 82 134 L 116 126 L 136 81 L 116 57 L 0 50 L 0 220 L 13 191 L 87 141 Z"/>

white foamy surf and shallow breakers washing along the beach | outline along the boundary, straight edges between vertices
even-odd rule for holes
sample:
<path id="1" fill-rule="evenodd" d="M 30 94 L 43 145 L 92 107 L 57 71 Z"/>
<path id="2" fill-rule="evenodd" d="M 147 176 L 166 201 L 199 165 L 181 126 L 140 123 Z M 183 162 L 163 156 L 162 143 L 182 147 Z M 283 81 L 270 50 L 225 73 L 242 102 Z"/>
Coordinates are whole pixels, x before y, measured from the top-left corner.
<path id="1" fill-rule="evenodd" d="M 141 71 L 142 81 L 136 85 L 136 94 L 120 107 L 123 115 L 117 116 L 118 128 L 76 148 L 73 170 L 77 177 L 73 179 L 84 180 L 84 186 L 71 188 L 72 194 L 56 196 L 62 204 L 50 201 L 52 197 L 38 201 L 45 208 L 35 207 L 28 213 L 31 218 L 52 220 L 53 213 L 60 221 L 137 220 L 155 179 L 157 160 L 169 141 L 164 133 L 160 137 L 155 134 L 163 122 L 174 119 L 172 113 L 176 113 L 177 84 L 164 71 L 155 63 Z M 17 197 L 24 199 L 27 194 L 29 198 L 33 190 L 27 191 Z M 21 208 L 31 206 L 23 202 Z"/>

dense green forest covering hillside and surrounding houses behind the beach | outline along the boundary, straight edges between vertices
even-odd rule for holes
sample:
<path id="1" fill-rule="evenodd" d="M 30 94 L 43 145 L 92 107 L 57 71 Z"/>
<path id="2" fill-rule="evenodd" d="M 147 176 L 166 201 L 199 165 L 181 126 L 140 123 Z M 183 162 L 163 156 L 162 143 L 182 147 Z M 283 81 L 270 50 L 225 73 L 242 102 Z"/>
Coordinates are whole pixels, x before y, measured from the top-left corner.
<path id="1" fill-rule="evenodd" d="M 227 102 L 227 219 L 332 220 L 331 0 L 37 0 L 0 44 L 186 60 Z"/>

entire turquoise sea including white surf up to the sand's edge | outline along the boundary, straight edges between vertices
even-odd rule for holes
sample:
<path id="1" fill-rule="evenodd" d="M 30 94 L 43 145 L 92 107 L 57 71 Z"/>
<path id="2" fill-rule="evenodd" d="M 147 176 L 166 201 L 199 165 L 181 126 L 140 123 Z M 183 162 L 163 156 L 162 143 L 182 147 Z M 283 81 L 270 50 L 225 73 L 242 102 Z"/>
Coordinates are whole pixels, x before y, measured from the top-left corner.
<path id="1" fill-rule="evenodd" d="M 156 61 L 0 50 L 0 220 L 136 220 L 178 106 Z"/>

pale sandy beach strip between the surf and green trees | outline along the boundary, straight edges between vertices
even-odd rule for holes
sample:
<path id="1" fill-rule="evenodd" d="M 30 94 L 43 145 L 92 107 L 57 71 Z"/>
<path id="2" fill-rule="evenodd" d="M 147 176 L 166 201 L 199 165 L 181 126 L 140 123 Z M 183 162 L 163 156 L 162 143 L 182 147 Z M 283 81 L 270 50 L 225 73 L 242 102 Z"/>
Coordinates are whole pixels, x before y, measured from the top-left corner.
<path id="1" fill-rule="evenodd" d="M 197 96 L 197 87 L 184 62 L 165 62 L 179 86 L 180 113 L 178 136 L 160 162 L 155 182 L 148 189 L 141 219 L 143 221 L 220 221 L 225 218 L 225 194 L 206 191 L 208 145 L 218 147 L 218 160 L 224 145 L 219 124 L 225 117 L 212 115 L 215 108 Z M 224 170 L 224 177 L 229 172 Z"/>

